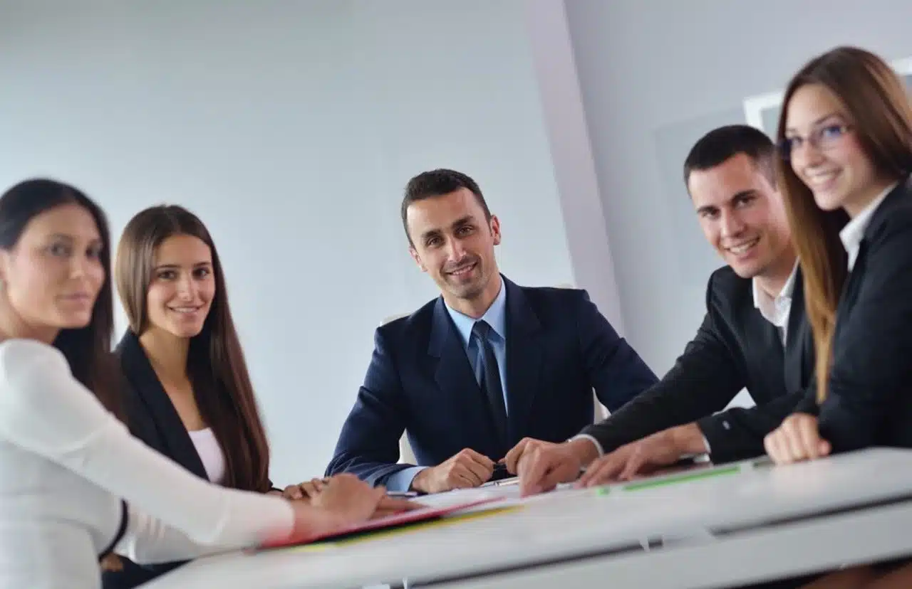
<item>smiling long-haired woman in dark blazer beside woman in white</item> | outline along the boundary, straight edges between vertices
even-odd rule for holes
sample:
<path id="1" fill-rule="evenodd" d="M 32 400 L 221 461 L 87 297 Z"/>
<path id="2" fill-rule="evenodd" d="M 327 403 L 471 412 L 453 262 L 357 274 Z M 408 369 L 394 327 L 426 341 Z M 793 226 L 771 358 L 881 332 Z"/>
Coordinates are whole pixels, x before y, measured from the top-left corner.
<path id="1" fill-rule="evenodd" d="M 173 205 L 140 211 L 120 237 L 114 276 L 130 323 L 117 354 L 133 434 L 210 482 L 282 493 L 269 480 L 269 444 L 202 220 Z M 134 587 L 179 564 L 109 561 L 104 586 Z"/>

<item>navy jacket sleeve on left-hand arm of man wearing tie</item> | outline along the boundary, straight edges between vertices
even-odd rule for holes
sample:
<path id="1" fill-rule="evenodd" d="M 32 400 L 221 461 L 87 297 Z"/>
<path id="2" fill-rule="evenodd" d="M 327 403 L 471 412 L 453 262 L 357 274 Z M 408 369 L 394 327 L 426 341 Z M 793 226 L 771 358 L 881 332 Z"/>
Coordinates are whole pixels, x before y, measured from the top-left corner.
<path id="1" fill-rule="evenodd" d="M 370 484 L 386 484 L 389 476 L 414 466 L 397 464 L 399 438 L 405 432 L 403 391 L 389 342 L 374 333 L 374 353 L 355 406 L 348 413 L 326 476 L 351 472 Z"/>

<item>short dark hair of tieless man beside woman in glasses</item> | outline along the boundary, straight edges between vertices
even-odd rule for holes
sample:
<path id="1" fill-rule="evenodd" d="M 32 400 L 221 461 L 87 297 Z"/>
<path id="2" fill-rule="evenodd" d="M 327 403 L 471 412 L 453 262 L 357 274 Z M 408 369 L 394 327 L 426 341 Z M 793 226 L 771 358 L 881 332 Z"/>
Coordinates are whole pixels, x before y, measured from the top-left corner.
<path id="1" fill-rule="evenodd" d="M 760 129 L 748 125 L 726 125 L 700 137 L 684 160 L 684 184 L 691 172 L 715 168 L 738 154 L 750 157 L 770 184 L 776 185 L 776 147 Z"/>

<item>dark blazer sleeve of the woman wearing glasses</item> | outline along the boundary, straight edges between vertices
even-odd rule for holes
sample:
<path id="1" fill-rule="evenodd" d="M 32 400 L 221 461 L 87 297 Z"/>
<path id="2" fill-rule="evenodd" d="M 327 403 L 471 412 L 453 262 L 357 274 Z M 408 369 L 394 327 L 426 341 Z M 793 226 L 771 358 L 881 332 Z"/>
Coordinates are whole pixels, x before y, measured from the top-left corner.
<path id="1" fill-rule="evenodd" d="M 874 445 L 912 379 L 912 212 L 886 220 L 862 248 L 865 274 L 852 308 L 837 311 L 833 366 L 818 418 L 834 452 Z"/>

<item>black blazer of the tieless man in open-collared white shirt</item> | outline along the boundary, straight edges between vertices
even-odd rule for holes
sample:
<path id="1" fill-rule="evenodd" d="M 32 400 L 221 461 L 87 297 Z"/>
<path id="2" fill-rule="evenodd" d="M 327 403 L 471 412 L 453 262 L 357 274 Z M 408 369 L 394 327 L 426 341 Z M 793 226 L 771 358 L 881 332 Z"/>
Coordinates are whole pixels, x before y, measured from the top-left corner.
<path id="1" fill-rule="evenodd" d="M 751 279 L 725 266 L 710 276 L 706 317 L 658 384 L 584 433 L 605 452 L 669 427 L 697 421 L 712 462 L 761 455 L 772 432 L 803 399 L 814 372 L 814 340 L 804 315 L 801 270 L 795 277 L 785 349 L 775 326 L 753 304 Z M 756 407 L 724 409 L 747 388 Z"/>

